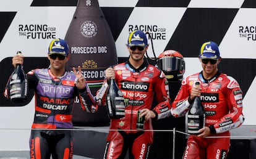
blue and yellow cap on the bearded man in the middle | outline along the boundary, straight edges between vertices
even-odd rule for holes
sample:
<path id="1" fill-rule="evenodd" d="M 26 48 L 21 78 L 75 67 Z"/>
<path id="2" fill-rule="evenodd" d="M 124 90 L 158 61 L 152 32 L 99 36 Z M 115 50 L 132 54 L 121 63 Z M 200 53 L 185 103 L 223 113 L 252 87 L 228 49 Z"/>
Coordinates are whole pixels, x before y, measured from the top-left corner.
<path id="1" fill-rule="evenodd" d="M 148 46 L 147 36 L 143 31 L 134 30 L 130 33 L 127 46 Z"/>

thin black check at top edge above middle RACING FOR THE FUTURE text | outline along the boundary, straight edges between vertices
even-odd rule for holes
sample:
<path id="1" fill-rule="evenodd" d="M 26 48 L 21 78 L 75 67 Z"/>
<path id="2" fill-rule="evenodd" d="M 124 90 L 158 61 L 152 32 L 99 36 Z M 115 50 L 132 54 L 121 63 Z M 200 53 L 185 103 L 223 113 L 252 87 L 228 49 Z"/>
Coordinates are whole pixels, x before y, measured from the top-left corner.
<path id="1" fill-rule="evenodd" d="M 136 7 L 187 7 L 190 0 L 139 0 Z"/>

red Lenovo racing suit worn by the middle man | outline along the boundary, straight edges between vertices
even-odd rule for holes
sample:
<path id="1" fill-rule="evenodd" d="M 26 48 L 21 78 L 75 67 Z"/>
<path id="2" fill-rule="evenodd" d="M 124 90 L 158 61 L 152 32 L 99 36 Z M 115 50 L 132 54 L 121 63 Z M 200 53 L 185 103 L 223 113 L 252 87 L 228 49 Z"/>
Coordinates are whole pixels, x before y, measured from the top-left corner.
<path id="1" fill-rule="evenodd" d="M 137 113 L 143 108 L 151 109 L 155 93 L 158 105 L 153 108 L 155 119 L 170 115 L 168 81 L 163 71 L 144 62 L 135 69 L 129 62 L 114 66 L 115 80 L 125 100 L 125 117 L 111 119 L 104 158 L 125 158 L 127 149 L 130 158 L 147 158 L 153 143 L 153 131 L 137 131 Z M 96 99 L 106 96 L 107 80 L 96 94 Z M 103 100 L 104 101 L 104 100 Z M 106 105 L 103 102 L 102 105 Z M 151 119 L 145 121 L 144 130 L 152 130 Z"/>

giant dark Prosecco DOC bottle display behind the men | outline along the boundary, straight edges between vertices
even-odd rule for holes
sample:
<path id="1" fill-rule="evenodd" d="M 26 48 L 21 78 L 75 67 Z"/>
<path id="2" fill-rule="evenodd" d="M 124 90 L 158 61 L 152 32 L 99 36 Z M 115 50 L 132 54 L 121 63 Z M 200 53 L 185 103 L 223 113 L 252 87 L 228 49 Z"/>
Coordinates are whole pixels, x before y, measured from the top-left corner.
<path id="1" fill-rule="evenodd" d="M 113 35 L 100 9 L 98 0 L 79 0 L 65 40 L 69 45 L 70 59 L 66 69 L 82 67 L 92 94 L 100 89 L 105 78 L 105 70 L 117 63 L 116 46 Z M 82 112 L 79 100 L 75 100 L 73 110 L 74 125 L 109 124 L 106 107 L 99 107 L 96 113 Z"/>

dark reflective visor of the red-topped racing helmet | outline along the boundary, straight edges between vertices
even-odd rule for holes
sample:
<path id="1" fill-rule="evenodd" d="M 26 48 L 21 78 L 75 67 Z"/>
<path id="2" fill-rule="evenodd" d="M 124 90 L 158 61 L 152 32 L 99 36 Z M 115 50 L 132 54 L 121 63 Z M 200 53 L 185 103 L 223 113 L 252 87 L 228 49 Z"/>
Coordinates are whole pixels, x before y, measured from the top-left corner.
<path id="1" fill-rule="evenodd" d="M 184 69 L 184 61 L 179 57 L 162 57 L 158 60 L 158 68 L 164 72 Z"/>

